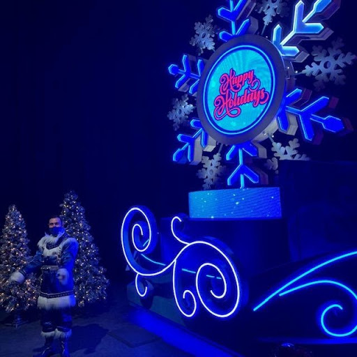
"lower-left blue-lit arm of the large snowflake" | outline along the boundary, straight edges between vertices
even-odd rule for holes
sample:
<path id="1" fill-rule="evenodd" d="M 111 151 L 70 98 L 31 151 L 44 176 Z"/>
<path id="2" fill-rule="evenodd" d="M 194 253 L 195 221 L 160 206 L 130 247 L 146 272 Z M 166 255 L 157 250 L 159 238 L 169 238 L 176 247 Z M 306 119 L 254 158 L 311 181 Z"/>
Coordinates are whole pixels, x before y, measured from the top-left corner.
<path id="1" fill-rule="evenodd" d="M 199 143 L 199 147 L 204 150 L 208 145 L 209 136 L 202 127 L 201 121 L 199 119 L 194 118 L 190 121 L 191 128 L 196 129 L 194 135 L 185 135 L 179 134 L 177 135 L 177 139 L 179 142 L 185 143 L 182 148 L 177 149 L 172 156 L 172 160 L 178 163 L 185 162 L 194 162 L 195 158 L 195 149 L 197 149 L 197 143 Z M 201 158 L 199 158 L 199 162 Z M 196 162 L 194 162 L 196 163 Z M 197 162 L 198 163 L 198 162 Z"/>

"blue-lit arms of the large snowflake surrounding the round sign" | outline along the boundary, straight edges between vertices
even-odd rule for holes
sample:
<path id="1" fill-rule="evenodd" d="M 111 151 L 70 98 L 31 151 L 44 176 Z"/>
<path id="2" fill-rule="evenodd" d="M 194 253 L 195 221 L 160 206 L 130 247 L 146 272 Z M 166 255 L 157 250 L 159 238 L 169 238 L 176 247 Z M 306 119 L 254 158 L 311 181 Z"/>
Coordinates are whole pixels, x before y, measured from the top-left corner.
<path id="1" fill-rule="evenodd" d="M 284 6 L 284 9 L 282 9 L 282 6 Z M 278 49 L 284 61 L 287 89 L 278 114 L 276 114 L 272 123 L 255 139 L 243 144 L 225 146 L 223 153 L 221 153 L 222 145 L 218 145 L 220 143 L 207 134 L 199 119 L 192 118 L 190 127 L 195 132 L 177 136 L 182 145 L 173 155 L 174 162 L 198 165 L 202 162 L 204 152 L 208 151 L 214 155 L 217 152 L 215 149 L 219 148 L 220 155 L 225 158 L 227 164 L 235 162 L 235 167 L 230 172 L 227 170 L 229 172 L 227 174 L 227 185 L 239 185 L 244 188 L 247 182 L 254 184 L 267 182 L 266 173 L 252 165 L 252 159 L 267 158 L 266 149 L 259 143 L 263 142 L 264 139 L 271 139 L 274 132 L 279 131 L 294 136 L 300 129 L 301 137 L 306 142 L 318 144 L 321 142 L 325 131 L 342 133 L 350 130 L 351 126 L 346 119 L 331 113 L 336 104 L 335 98 L 321 95 L 312 96 L 312 91 L 296 85 L 300 78 L 304 78 L 304 76 L 297 76 L 297 74 L 316 77 L 317 75 L 321 76 L 321 71 L 310 70 L 307 74 L 309 67 L 306 66 L 307 69 L 297 73 L 294 68 L 296 63 L 303 63 L 310 56 L 309 52 L 301 46 L 303 41 L 326 40 L 331 36 L 333 31 L 328 29 L 326 24 L 321 21 L 331 17 L 338 8 L 339 5 L 335 0 L 314 0 L 310 6 L 307 6 L 305 0 L 298 0 L 294 8 L 290 10 L 291 25 L 283 28 L 280 23 L 273 24 L 273 17 L 280 13 L 282 15 L 282 10 L 284 10 L 284 14 L 287 13 L 286 3 L 282 3 L 282 1 L 279 1 L 278 4 L 272 1 L 260 1 L 258 3 L 254 0 L 227 0 L 227 6 L 221 6 L 216 12 L 218 20 L 223 22 L 227 28 L 213 26 L 211 17 L 206 18 L 206 23 L 196 23 L 195 40 L 192 40 L 191 43 L 198 47 L 199 54 L 208 54 L 209 57 L 211 52 L 208 53 L 208 51 L 219 49 L 218 43 L 213 43 L 214 36 L 222 41 L 222 45 L 247 33 L 259 36 L 259 21 L 251 15 L 253 10 L 255 10 L 255 13 L 262 13 L 261 22 L 263 22 L 264 29 L 263 31 L 260 30 L 260 33 L 264 33 L 268 26 L 272 26 L 270 40 Z M 263 15 L 265 16 L 263 17 Z M 213 29 L 218 28 L 220 31 L 213 31 Z M 312 53 L 312 55 L 314 54 Z M 341 67 L 351 64 L 354 59 L 355 56 L 349 55 L 348 61 L 344 61 Z M 169 66 L 169 73 L 176 77 L 175 88 L 188 93 L 192 100 L 197 97 L 199 81 L 207 60 L 208 58 L 201 56 L 183 54 L 181 64 Z M 339 71 L 341 75 L 342 69 L 339 69 Z M 335 81 L 335 84 L 339 84 L 338 82 Z M 291 85 L 291 83 L 294 84 Z M 273 144 L 276 145 L 276 143 Z M 207 158 L 207 155 L 205 157 Z"/>

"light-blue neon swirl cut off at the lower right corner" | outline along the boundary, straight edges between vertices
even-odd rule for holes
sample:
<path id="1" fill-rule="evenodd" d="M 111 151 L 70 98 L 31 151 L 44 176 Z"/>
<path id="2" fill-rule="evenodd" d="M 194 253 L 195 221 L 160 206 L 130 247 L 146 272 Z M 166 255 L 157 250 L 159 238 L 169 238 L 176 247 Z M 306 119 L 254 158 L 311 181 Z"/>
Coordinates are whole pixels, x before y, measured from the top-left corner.
<path id="1" fill-rule="evenodd" d="M 337 257 L 333 257 L 332 259 L 323 261 L 321 262 L 321 264 L 318 264 L 308 269 L 307 271 L 305 271 L 305 273 L 298 275 L 296 278 L 287 282 L 287 284 L 284 284 L 282 287 L 275 290 L 273 294 L 269 295 L 267 298 L 261 301 L 261 303 L 256 305 L 253 308 L 253 311 L 256 312 L 257 310 L 261 309 L 261 307 L 269 303 L 274 298 L 287 296 L 292 293 L 297 293 L 298 291 L 303 291 L 307 288 L 321 287 L 324 285 L 338 289 L 340 293 L 339 296 L 342 296 L 342 294 L 348 296 L 349 301 L 343 300 L 342 302 L 339 298 L 339 301 L 328 302 L 321 306 L 319 312 L 319 325 L 321 327 L 321 330 L 330 337 L 348 337 L 350 335 L 353 335 L 357 331 L 357 317 L 356 313 L 352 314 L 350 310 L 357 309 L 356 292 L 351 289 L 351 287 L 347 286 L 347 284 L 342 284 L 342 282 L 339 282 L 337 280 L 314 280 L 313 278 L 310 278 L 313 273 L 321 271 L 322 268 L 331 267 L 333 266 L 333 264 L 346 261 L 347 259 L 351 259 L 353 257 L 357 257 L 357 251 L 348 252 L 344 255 L 338 255 Z M 310 278 L 310 280 L 304 281 L 304 278 Z M 337 319 L 343 320 L 344 324 L 348 324 L 349 326 L 336 328 L 335 324 L 333 323 L 336 323 L 335 320 Z M 354 320 L 354 322 L 351 322 L 351 320 Z M 334 327 L 332 327 L 331 325 L 333 325 Z"/>

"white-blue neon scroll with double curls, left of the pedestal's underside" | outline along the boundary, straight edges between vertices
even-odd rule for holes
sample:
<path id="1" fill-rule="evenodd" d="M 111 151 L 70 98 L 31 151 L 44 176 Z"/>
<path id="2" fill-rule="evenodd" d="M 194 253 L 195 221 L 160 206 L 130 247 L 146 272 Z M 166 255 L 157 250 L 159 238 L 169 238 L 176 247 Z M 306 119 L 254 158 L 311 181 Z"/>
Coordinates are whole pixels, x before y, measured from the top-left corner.
<path id="1" fill-rule="evenodd" d="M 135 220 L 135 223 L 132 224 L 132 221 L 138 215 L 142 216 L 144 221 Z M 169 268 L 172 267 L 174 299 L 180 312 L 185 317 L 193 317 L 196 314 L 198 307 L 197 301 L 200 301 L 204 309 L 215 317 L 221 319 L 230 317 L 238 310 L 241 298 L 241 287 L 234 264 L 225 252 L 213 243 L 209 243 L 208 241 L 189 242 L 190 238 L 188 236 L 185 236 L 181 231 L 180 233 L 176 231 L 176 225 L 182 222 L 183 218 L 175 216 L 172 218 L 170 227 L 172 236 L 183 245 L 183 248 L 179 250 L 169 264 L 162 264 L 146 256 L 155 249 L 157 243 L 156 238 L 158 236 L 155 218 L 149 209 L 146 207 L 133 207 L 126 213 L 121 226 L 121 246 L 128 265 L 132 268 L 132 271 L 135 271 L 137 274 L 135 276 L 135 289 L 137 290 L 137 294 L 144 298 L 149 293 L 147 286 L 149 283 L 148 280 L 141 280 L 141 278 L 150 278 L 168 273 Z M 219 261 L 220 266 L 213 264 L 211 261 L 206 261 L 199 264 L 196 272 L 179 267 L 180 264 L 182 264 L 183 261 L 187 261 L 187 259 L 191 262 L 197 261 L 197 257 L 196 259 L 195 256 L 192 257 L 192 252 L 198 251 L 199 253 L 206 253 L 206 255 L 199 254 L 201 260 L 202 257 L 214 257 L 214 261 Z M 139 257 L 144 257 L 146 261 L 155 263 L 155 268 L 149 270 L 142 267 L 137 262 Z M 204 273 L 206 269 L 215 271 L 218 276 Z M 195 287 L 181 289 L 179 280 L 183 273 L 195 274 Z M 204 284 L 205 280 L 206 284 Z M 208 293 L 205 294 L 204 289 L 213 284 L 213 280 L 218 286 L 209 288 Z"/>

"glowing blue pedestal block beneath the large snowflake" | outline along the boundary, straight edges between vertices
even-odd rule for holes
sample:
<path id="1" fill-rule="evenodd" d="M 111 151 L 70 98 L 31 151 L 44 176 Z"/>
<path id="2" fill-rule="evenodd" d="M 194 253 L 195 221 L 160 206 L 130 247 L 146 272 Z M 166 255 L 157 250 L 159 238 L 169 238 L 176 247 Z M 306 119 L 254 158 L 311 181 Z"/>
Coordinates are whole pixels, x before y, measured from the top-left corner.
<path id="1" fill-rule="evenodd" d="M 188 194 L 190 218 L 276 219 L 282 217 L 280 189 L 276 187 L 206 190 Z"/>

